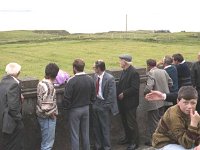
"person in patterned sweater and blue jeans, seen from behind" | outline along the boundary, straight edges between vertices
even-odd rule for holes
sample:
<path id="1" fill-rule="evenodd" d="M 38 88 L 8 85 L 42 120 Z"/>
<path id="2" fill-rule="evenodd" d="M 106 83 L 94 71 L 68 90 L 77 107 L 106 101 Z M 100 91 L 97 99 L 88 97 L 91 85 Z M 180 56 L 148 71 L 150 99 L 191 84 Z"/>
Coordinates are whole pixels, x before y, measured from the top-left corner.
<path id="1" fill-rule="evenodd" d="M 37 86 L 36 114 L 42 134 L 41 150 L 51 150 L 54 144 L 58 108 L 53 83 L 58 71 L 55 63 L 49 63 L 45 68 L 45 78 Z"/>

